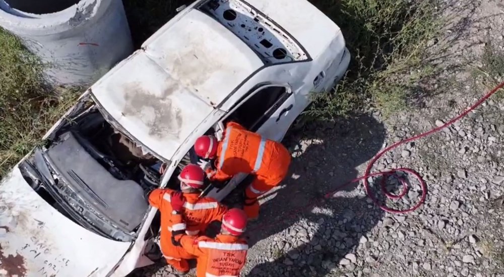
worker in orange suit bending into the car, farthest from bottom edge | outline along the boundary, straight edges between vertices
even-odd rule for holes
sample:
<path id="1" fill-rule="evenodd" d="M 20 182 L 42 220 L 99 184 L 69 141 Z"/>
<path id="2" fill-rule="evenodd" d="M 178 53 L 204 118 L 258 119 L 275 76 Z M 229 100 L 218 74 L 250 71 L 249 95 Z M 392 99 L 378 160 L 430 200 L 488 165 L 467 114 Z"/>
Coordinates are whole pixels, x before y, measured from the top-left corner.
<path id="1" fill-rule="evenodd" d="M 198 164 L 211 181 L 225 181 L 238 173 L 254 174 L 255 179 L 245 190 L 244 211 L 249 219 L 259 217 L 258 197 L 282 182 L 289 170 L 291 156 L 280 142 L 268 140 L 247 131 L 235 122 L 226 124 L 224 137 L 202 136 L 194 145 Z"/>

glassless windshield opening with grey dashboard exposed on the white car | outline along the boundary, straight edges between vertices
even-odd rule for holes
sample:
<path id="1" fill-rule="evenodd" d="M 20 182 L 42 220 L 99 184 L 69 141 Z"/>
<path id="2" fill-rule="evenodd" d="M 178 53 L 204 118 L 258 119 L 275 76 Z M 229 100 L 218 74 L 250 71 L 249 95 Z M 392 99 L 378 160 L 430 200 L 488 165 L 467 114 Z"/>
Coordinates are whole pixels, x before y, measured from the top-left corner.
<path id="1" fill-rule="evenodd" d="M 20 164 L 47 202 L 100 235 L 131 241 L 158 187 L 163 161 L 114 128 L 96 104 L 83 107 Z"/>

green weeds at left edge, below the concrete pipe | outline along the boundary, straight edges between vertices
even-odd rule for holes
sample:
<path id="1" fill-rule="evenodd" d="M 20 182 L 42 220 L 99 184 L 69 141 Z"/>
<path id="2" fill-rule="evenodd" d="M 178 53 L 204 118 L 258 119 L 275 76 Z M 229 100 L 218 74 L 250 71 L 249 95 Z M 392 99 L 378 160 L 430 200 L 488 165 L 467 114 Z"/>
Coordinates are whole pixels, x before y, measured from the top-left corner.
<path id="1" fill-rule="evenodd" d="M 76 98 L 42 84 L 40 61 L 0 28 L 0 178 L 26 155 Z"/>

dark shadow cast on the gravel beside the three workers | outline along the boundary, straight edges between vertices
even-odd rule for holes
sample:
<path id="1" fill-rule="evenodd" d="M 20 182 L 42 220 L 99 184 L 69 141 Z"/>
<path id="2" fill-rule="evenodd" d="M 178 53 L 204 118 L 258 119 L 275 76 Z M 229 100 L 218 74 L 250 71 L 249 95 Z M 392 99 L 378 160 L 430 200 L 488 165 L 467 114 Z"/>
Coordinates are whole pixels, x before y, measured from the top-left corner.
<path id="1" fill-rule="evenodd" d="M 383 211 L 366 201 L 357 184 L 333 199 L 320 199 L 358 177 L 356 168 L 382 148 L 385 136 L 384 125 L 367 115 L 337 119 L 334 124 L 315 122 L 308 130 L 288 134 L 284 143 L 292 148 L 290 141 L 300 142 L 294 155 L 296 150 L 302 153 L 293 158 L 282 188 L 262 204 L 260 219 L 248 227 L 250 247 L 259 246 L 250 250 L 249 257 L 267 260 L 248 276 L 324 276 L 355 250 Z M 280 232 L 276 240 L 267 239 Z M 262 254 L 265 251 L 272 253 L 269 259 Z M 351 270 L 353 265 L 346 266 Z"/>

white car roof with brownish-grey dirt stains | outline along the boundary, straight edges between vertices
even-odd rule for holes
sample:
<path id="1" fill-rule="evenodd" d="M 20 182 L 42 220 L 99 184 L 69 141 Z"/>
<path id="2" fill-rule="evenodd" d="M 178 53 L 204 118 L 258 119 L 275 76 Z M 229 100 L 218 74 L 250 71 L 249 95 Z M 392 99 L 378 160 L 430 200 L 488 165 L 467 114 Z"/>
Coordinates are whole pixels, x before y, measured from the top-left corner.
<path id="1" fill-rule="evenodd" d="M 191 10 L 162 27 L 91 91 L 111 121 L 171 159 L 214 107 L 263 65 L 224 26 Z"/>

